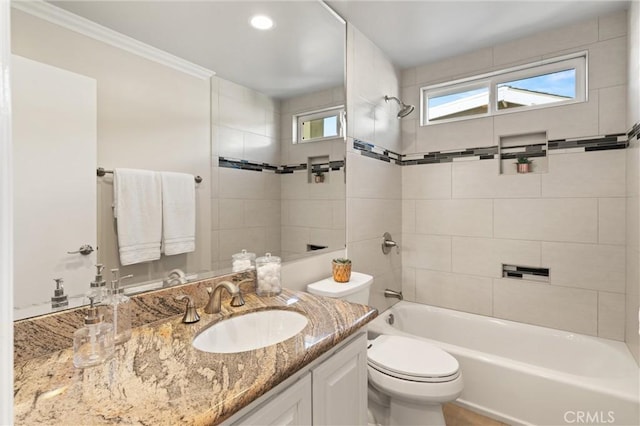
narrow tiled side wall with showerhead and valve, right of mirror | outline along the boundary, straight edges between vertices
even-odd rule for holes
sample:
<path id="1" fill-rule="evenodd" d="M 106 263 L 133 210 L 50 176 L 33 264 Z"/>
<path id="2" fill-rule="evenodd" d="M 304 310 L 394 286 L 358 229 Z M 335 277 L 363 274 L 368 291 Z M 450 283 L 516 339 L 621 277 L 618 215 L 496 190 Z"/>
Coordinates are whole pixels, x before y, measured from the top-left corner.
<path id="1" fill-rule="evenodd" d="M 353 269 L 373 275 L 369 302 L 379 310 L 385 288 L 400 290 L 401 256 L 382 253 L 382 234 L 390 232 L 402 247 L 400 167 L 368 158 L 353 149 L 360 139 L 393 151 L 400 149 L 397 105 L 399 72 L 382 51 L 357 28 L 347 24 L 347 253 Z"/>

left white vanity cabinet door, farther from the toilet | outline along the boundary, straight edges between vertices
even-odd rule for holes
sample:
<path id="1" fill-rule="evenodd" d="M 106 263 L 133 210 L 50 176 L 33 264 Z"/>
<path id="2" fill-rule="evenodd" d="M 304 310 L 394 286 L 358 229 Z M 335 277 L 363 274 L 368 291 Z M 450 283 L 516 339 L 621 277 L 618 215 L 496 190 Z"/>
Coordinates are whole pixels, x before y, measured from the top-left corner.
<path id="1" fill-rule="evenodd" d="M 311 374 L 305 375 L 237 425 L 311 425 Z"/>

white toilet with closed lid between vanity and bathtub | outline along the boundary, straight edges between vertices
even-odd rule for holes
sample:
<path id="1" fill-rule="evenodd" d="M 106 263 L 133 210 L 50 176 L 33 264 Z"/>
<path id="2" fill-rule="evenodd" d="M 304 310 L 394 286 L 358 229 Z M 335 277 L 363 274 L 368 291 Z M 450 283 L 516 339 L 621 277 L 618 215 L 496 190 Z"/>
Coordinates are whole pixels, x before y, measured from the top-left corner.
<path id="1" fill-rule="evenodd" d="M 351 273 L 348 283 L 333 278 L 309 284 L 319 296 L 367 304 L 373 277 Z M 369 423 L 387 425 L 444 425 L 442 404 L 462 393 L 458 361 L 423 340 L 380 335 L 369 341 Z"/>

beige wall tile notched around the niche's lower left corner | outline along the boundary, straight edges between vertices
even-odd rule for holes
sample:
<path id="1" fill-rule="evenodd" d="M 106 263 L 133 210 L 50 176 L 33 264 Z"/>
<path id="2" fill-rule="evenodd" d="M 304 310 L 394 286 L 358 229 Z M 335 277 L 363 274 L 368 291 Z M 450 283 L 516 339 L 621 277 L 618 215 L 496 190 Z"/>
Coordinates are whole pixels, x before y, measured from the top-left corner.
<path id="1" fill-rule="evenodd" d="M 460 162 L 452 168 L 453 198 L 540 196 L 539 174 L 500 174 L 498 160 Z"/>

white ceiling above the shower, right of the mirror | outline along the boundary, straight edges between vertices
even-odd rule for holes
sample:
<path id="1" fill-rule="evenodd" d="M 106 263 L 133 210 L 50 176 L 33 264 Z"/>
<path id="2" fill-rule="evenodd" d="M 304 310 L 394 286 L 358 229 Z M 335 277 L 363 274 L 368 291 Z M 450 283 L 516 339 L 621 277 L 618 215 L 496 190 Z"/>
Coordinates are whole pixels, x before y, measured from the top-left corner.
<path id="1" fill-rule="evenodd" d="M 628 8 L 628 1 L 344 1 L 327 3 L 399 68 L 435 62 Z"/>

